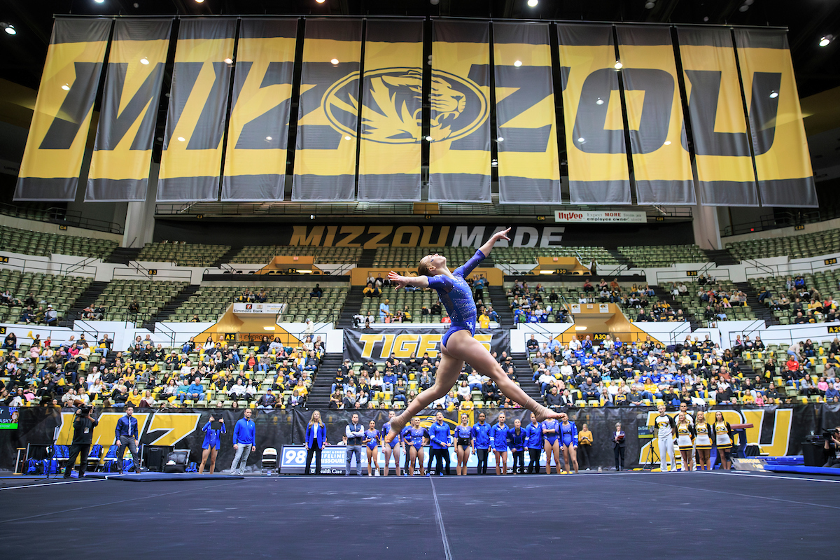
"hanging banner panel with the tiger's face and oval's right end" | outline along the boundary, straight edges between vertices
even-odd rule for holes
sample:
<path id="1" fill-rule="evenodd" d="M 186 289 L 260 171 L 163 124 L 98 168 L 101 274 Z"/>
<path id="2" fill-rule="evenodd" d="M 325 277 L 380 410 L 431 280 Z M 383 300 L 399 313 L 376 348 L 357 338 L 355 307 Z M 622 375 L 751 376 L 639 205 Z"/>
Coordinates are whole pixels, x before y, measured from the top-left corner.
<path id="1" fill-rule="evenodd" d="M 490 202 L 490 24 L 432 29 L 428 200 Z"/>

